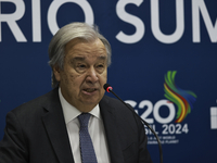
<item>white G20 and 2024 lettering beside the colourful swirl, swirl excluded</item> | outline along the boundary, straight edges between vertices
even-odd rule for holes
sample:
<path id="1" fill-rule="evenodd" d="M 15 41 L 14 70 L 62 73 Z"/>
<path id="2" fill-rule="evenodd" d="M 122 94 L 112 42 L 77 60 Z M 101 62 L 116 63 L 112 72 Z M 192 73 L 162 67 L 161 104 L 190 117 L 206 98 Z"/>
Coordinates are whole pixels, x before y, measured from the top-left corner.
<path id="1" fill-rule="evenodd" d="M 140 116 L 143 118 L 145 122 L 150 124 L 150 126 L 155 130 L 156 134 L 162 134 L 162 135 L 180 135 L 180 134 L 188 134 L 189 128 L 188 124 L 174 124 L 171 123 L 176 116 L 176 108 L 174 103 L 170 101 L 163 99 L 157 101 L 155 104 L 153 104 L 149 100 L 143 100 L 141 101 L 138 105 L 136 101 L 132 100 L 126 100 L 126 103 L 129 103 L 132 108 L 135 108 L 135 111 L 137 113 L 140 112 L 140 110 L 145 110 Z M 137 108 L 136 108 L 137 106 Z M 165 108 L 168 109 L 168 115 L 167 116 L 162 116 L 159 113 L 161 109 Z M 151 115 L 153 116 L 151 117 Z M 162 124 L 162 128 L 156 128 L 154 125 L 154 120 Z M 145 128 L 145 133 L 148 135 L 152 135 L 151 130 Z"/>

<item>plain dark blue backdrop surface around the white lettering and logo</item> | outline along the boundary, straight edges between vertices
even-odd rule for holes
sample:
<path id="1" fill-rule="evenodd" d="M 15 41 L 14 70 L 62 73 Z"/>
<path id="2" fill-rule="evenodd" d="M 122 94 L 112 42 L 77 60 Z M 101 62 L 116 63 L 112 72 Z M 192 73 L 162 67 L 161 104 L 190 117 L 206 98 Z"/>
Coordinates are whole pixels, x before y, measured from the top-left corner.
<path id="1" fill-rule="evenodd" d="M 3 137 L 5 115 L 9 111 L 52 89 L 51 68 L 48 65 L 48 45 L 53 36 L 48 26 L 48 11 L 52 0 L 38 1 L 41 15 L 41 41 L 33 41 L 33 1 L 24 0 L 25 13 L 16 21 L 27 39 L 26 42 L 17 41 L 9 25 L 0 22 L 0 139 Z M 148 100 L 154 105 L 157 101 L 166 99 L 164 77 L 168 71 L 177 71 L 175 79 L 177 86 L 196 95 L 191 113 L 180 123 L 182 126 L 187 124 L 189 131 L 165 135 L 175 136 L 178 143 L 163 145 L 164 162 L 214 163 L 217 162 L 217 129 L 210 128 L 210 106 L 217 108 L 217 41 L 210 40 L 205 21 L 200 14 L 201 41 L 193 42 L 192 5 L 193 1 L 205 3 L 213 28 L 216 27 L 213 35 L 217 40 L 217 1 L 181 1 L 184 4 L 184 30 L 180 39 L 173 43 L 161 42 L 153 35 L 151 0 L 141 0 L 139 7 L 133 3 L 125 7 L 128 14 L 140 18 L 145 26 L 143 37 L 135 43 L 125 43 L 116 39 L 120 30 L 126 35 L 136 33 L 132 23 L 124 22 L 118 17 L 118 9 L 116 9 L 118 1 L 87 2 L 93 11 L 94 24 L 112 45 L 108 83 L 124 100 L 137 102 L 135 109 L 140 110 L 140 114 L 146 111 L 145 106 L 138 109 L 141 101 Z M 12 14 L 17 10 L 13 2 L 0 2 L 0 5 L 2 14 Z M 158 11 L 162 33 L 174 34 L 176 1 L 162 0 Z M 56 14 L 59 27 L 71 22 L 85 22 L 85 18 L 82 9 L 73 0 L 61 5 Z M 159 114 L 166 117 L 169 114 L 168 109 L 163 106 Z M 148 117 L 154 120 L 152 113 Z M 175 121 L 176 117 L 166 125 L 177 125 Z M 154 120 L 154 125 L 159 136 L 163 136 L 162 126 L 164 124 Z M 148 148 L 153 161 L 159 162 L 157 145 L 149 145 Z"/>

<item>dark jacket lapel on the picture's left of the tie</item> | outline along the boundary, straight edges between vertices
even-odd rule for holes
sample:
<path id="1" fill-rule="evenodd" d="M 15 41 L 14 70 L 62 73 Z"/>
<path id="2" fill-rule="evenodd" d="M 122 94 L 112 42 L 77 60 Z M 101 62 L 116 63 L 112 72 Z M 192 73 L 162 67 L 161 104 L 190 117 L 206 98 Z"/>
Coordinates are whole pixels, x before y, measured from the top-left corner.
<path id="1" fill-rule="evenodd" d="M 42 116 L 42 122 L 55 154 L 61 163 L 74 163 L 58 89 L 52 90 L 47 100 L 50 102 L 44 105 L 48 112 Z"/>

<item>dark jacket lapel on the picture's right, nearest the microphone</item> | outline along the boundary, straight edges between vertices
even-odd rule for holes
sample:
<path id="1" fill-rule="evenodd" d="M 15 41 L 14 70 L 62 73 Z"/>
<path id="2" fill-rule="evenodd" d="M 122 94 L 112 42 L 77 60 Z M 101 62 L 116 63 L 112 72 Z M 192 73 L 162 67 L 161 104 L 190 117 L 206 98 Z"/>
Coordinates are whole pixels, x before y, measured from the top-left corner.
<path id="1" fill-rule="evenodd" d="M 108 100 L 103 97 L 100 102 L 101 115 L 104 123 L 105 135 L 107 139 L 111 162 L 124 163 L 122 148 L 118 137 L 118 128 L 116 125 L 115 109 L 108 103 Z"/>

